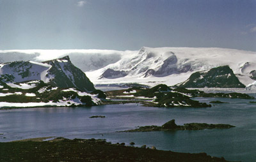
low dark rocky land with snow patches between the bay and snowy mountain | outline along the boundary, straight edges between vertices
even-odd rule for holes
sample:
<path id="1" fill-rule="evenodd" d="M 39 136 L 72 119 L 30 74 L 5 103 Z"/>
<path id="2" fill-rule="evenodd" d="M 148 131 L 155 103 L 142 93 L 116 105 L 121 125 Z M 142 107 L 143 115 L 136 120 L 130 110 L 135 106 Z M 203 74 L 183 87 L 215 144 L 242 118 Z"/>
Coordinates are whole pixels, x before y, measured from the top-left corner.
<path id="1" fill-rule="evenodd" d="M 240 98 L 254 99 L 248 94 L 231 93 L 206 93 L 197 89 L 178 87 L 172 89 L 165 84 L 159 84 L 152 88 L 131 87 L 116 91 L 107 91 L 109 99 L 118 99 L 118 103 L 142 103 L 147 107 L 211 107 L 210 104 L 201 103 L 193 98 Z"/>

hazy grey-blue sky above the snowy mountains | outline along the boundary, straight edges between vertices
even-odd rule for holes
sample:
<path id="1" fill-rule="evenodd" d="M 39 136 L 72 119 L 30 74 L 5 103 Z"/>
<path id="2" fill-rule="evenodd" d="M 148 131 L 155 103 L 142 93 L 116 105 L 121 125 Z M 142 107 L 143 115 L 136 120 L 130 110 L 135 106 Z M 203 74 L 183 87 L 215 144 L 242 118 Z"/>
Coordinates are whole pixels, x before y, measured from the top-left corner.
<path id="1" fill-rule="evenodd" d="M 0 50 L 256 51 L 256 0 L 0 0 Z"/>

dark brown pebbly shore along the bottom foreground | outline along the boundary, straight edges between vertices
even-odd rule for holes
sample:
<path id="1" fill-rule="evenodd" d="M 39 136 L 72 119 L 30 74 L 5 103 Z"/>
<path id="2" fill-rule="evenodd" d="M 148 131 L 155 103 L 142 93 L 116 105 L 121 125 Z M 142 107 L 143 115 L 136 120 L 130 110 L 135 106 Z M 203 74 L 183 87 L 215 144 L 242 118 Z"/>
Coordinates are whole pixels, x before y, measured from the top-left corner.
<path id="1" fill-rule="evenodd" d="M 31 138 L 0 143 L 0 161 L 226 161 L 206 153 L 160 151 L 106 140 L 52 137 Z M 47 140 L 47 141 L 44 141 Z"/>

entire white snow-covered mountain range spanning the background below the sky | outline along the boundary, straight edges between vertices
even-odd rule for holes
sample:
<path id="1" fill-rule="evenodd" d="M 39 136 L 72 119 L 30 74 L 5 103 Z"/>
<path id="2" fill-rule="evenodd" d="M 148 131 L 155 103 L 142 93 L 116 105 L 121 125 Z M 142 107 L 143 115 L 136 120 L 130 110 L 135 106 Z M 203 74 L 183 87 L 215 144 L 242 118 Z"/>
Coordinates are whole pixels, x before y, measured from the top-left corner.
<path id="1" fill-rule="evenodd" d="M 15 57 L 12 57 L 15 55 Z M 175 85 L 196 71 L 228 65 L 239 81 L 248 85 L 256 70 L 256 52 L 227 48 L 143 47 L 116 50 L 2 50 L 0 61 L 45 61 L 69 55 L 93 84 L 131 83 Z"/>

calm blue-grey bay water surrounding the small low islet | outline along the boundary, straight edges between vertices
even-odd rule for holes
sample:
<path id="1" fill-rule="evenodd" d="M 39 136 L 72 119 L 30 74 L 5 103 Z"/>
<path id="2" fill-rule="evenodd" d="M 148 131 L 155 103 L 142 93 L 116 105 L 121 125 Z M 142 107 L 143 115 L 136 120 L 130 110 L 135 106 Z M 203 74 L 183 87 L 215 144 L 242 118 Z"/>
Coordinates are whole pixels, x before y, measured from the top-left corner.
<path id="1" fill-rule="evenodd" d="M 250 94 L 256 96 L 255 93 Z M 109 142 L 125 142 L 136 146 L 153 145 L 175 152 L 206 152 L 230 161 L 256 159 L 255 99 L 195 98 L 213 104 L 211 108 L 155 108 L 137 104 L 103 105 L 90 108 L 22 108 L 0 110 L 0 142 L 63 136 L 65 138 L 105 138 Z M 105 118 L 89 117 L 105 115 Z M 176 124 L 206 122 L 231 124 L 231 129 L 200 131 L 164 131 L 117 133 L 136 126 L 157 125 L 175 119 Z"/>

